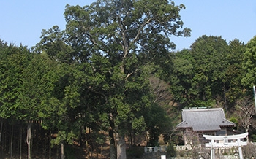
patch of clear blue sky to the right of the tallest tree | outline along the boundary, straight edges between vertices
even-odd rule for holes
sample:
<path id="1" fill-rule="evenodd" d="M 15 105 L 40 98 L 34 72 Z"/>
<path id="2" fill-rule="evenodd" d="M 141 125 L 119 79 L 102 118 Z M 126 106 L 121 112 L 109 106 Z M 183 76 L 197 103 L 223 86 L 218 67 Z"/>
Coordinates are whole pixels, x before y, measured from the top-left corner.
<path id="1" fill-rule="evenodd" d="M 192 29 L 191 37 L 173 38 L 177 50 L 189 48 L 202 36 L 222 36 L 228 42 L 239 39 L 245 44 L 256 36 L 255 0 L 176 0 L 184 4 L 181 11 L 184 26 Z"/>

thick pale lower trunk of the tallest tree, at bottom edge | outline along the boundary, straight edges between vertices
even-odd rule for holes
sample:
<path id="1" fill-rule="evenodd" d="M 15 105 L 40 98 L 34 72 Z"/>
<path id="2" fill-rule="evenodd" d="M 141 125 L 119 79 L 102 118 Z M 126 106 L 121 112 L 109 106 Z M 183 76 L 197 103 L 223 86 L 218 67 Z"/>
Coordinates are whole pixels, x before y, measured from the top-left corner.
<path id="1" fill-rule="evenodd" d="M 126 159 L 126 144 L 124 136 L 121 136 L 119 133 L 116 133 L 116 150 L 117 150 L 117 159 Z"/>

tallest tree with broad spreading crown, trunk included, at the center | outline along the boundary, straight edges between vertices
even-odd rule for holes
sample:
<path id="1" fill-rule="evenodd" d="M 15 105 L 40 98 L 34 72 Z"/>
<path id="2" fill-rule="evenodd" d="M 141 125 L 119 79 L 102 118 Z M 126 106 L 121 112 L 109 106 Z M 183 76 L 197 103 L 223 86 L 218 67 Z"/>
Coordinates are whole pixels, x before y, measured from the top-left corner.
<path id="1" fill-rule="evenodd" d="M 45 51 L 83 69 L 85 75 L 76 90 L 78 110 L 83 113 L 77 117 L 93 117 L 86 124 L 90 128 L 98 125 L 93 124 L 96 119 L 108 128 L 110 158 L 116 158 L 115 141 L 117 158 L 126 158 L 124 136 L 130 128 L 145 128 L 143 115 L 152 106 L 152 96 L 150 74 L 143 65 L 170 63 L 170 50 L 175 47 L 170 36 L 189 36 L 190 29 L 182 28 L 181 9 L 183 4 L 167 0 L 98 0 L 85 7 L 67 4 L 66 30 L 54 26 L 42 32 L 38 53 Z M 88 113 L 92 109 L 101 113 Z"/>

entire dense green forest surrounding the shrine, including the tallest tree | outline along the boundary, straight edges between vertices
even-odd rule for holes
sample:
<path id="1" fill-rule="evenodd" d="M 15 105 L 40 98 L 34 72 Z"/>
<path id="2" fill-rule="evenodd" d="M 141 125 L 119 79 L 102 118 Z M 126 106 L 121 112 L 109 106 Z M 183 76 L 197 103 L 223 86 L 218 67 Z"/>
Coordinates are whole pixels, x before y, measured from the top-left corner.
<path id="1" fill-rule="evenodd" d="M 239 131 L 255 132 L 256 36 L 247 43 L 189 36 L 184 5 L 162 0 L 67 4 L 66 28 L 28 48 L 0 40 L 0 155 L 127 158 L 145 142 L 181 144 L 181 109 L 222 107 Z M 250 134 L 250 140 L 255 136 Z M 108 155 L 103 155 L 105 148 Z M 126 149 L 129 147 L 129 149 Z"/>

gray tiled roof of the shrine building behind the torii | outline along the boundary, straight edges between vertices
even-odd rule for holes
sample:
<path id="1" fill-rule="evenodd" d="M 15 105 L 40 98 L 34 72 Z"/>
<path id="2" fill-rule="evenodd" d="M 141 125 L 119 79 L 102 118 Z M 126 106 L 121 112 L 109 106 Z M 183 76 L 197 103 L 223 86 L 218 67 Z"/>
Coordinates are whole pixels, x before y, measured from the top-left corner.
<path id="1" fill-rule="evenodd" d="M 235 123 L 226 120 L 222 108 L 183 109 L 182 122 L 177 128 L 192 128 L 193 131 L 219 131 L 221 127 L 233 126 Z"/>

